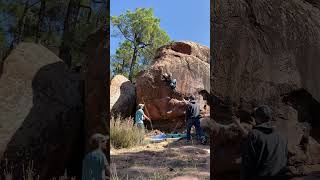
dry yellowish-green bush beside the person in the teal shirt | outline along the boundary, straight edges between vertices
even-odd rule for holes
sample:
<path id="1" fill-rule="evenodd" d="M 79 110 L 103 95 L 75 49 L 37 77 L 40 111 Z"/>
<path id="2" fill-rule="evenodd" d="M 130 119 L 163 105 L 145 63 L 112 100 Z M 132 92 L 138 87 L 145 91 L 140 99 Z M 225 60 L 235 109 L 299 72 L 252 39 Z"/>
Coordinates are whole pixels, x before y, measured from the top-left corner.
<path id="1" fill-rule="evenodd" d="M 132 118 L 111 118 L 110 142 L 114 148 L 130 148 L 143 143 L 144 132 L 133 124 Z"/>

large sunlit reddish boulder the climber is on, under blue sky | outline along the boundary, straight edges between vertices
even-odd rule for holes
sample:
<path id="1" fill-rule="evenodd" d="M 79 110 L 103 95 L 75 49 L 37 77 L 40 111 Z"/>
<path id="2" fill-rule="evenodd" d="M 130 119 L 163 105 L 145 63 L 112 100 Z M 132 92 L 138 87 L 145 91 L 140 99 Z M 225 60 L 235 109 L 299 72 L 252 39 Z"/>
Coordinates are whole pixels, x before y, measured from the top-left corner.
<path id="1" fill-rule="evenodd" d="M 206 104 L 202 92 L 209 92 L 209 52 L 208 47 L 193 42 L 175 42 L 159 48 L 151 67 L 138 75 L 137 103 L 146 104 L 154 127 L 174 128 L 184 118 L 181 100 L 186 96 L 193 94 L 201 106 Z M 163 73 L 172 73 L 177 80 L 177 93 L 161 80 Z"/>

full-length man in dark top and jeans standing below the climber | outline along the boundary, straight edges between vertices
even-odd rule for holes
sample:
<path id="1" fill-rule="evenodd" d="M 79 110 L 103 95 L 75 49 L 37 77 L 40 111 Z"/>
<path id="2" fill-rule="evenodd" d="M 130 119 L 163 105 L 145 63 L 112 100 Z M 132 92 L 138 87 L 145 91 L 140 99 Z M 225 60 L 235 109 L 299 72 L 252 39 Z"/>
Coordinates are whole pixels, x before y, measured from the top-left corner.
<path id="1" fill-rule="evenodd" d="M 191 139 L 191 128 L 195 126 L 197 137 L 201 140 L 202 144 L 206 144 L 206 137 L 202 128 L 200 127 L 200 106 L 192 95 L 189 98 L 189 103 L 186 109 L 186 122 L 187 122 L 187 141 Z"/>

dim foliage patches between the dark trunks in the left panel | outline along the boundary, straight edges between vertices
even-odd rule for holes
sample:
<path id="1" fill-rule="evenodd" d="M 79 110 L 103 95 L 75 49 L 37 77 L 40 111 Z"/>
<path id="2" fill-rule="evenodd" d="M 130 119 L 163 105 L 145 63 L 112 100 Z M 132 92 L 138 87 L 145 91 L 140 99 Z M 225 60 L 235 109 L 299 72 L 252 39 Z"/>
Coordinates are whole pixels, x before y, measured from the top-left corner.
<path id="1" fill-rule="evenodd" d="M 26 2 L 28 3 L 27 13 L 24 13 Z M 73 33 L 74 38 L 68 42 L 71 47 L 72 64 L 82 63 L 85 57 L 85 42 L 89 34 L 101 28 L 106 18 L 106 4 L 94 3 L 92 0 L 80 0 L 81 5 L 90 7 L 92 10 L 89 17 L 89 9 L 81 7 L 78 14 L 78 21 Z M 39 0 L 0 0 L 0 44 L 1 27 L 7 37 L 7 46 L 18 35 L 19 22 L 23 23 L 22 41 L 35 42 L 38 29 Z M 64 22 L 67 15 L 69 0 L 46 0 L 44 18 L 40 29 L 40 43 L 59 48 L 62 43 Z"/>

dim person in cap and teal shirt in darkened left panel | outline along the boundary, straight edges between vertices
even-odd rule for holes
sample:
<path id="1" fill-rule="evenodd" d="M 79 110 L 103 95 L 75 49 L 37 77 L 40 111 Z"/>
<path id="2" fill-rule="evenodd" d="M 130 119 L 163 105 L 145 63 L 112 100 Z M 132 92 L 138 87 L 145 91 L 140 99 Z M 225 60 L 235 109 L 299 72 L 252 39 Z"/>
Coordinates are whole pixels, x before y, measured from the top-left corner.
<path id="1" fill-rule="evenodd" d="M 88 153 L 82 166 L 82 180 L 106 180 L 110 177 L 109 165 L 103 150 L 106 150 L 108 136 L 94 134 L 90 138 L 93 151 Z"/>

